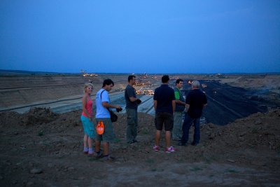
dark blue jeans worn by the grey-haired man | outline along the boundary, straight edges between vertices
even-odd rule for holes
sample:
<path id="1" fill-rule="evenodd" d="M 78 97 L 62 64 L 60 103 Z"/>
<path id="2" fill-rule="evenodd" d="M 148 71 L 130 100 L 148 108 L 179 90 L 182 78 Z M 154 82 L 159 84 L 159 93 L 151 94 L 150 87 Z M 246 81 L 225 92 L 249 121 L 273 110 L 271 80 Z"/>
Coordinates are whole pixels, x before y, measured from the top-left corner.
<path id="1" fill-rule="evenodd" d="M 183 122 L 183 137 L 181 139 L 182 144 L 188 143 L 188 134 L 190 127 L 195 125 L 195 133 L 193 134 L 193 143 L 200 143 L 200 118 L 191 118 L 188 113 L 185 114 L 185 120 Z"/>

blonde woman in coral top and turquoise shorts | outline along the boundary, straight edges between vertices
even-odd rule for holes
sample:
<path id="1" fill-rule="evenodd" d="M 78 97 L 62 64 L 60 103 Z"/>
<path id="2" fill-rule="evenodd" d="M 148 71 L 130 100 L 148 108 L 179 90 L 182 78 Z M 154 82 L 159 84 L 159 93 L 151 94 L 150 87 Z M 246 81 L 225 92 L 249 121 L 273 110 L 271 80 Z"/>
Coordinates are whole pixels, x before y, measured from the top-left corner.
<path id="1" fill-rule="evenodd" d="M 82 120 L 83 123 L 83 130 L 85 132 L 85 136 L 83 137 L 83 153 L 92 156 L 94 153 L 92 148 L 94 125 L 92 120 L 92 99 L 90 98 L 90 95 L 93 90 L 93 85 L 91 83 L 85 83 L 84 89 L 85 93 L 82 99 L 83 113 L 80 116 L 80 120 Z"/>

